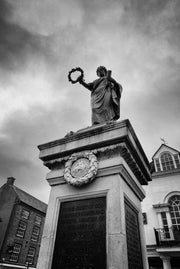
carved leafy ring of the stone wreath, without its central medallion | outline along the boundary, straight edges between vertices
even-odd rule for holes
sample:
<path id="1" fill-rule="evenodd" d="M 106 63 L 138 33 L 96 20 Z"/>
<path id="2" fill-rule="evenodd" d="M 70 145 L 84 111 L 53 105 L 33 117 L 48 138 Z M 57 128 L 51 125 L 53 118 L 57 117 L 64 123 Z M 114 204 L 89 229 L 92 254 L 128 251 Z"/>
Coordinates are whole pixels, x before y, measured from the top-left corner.
<path id="1" fill-rule="evenodd" d="M 79 158 L 88 159 L 90 167 L 84 176 L 74 178 L 71 174 L 71 168 L 73 163 L 76 162 Z M 65 164 L 64 179 L 68 184 L 80 187 L 84 184 L 91 182 L 95 178 L 97 170 L 98 170 L 97 158 L 93 153 L 91 152 L 84 152 L 81 154 L 74 153 L 71 155 L 71 157 Z"/>

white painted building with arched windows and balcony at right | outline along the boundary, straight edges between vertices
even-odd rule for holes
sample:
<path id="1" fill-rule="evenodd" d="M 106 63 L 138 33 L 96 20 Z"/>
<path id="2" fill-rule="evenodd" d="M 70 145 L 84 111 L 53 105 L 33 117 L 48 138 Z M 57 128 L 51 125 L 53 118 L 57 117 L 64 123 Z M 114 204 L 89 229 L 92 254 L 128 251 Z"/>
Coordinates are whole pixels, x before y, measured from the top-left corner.
<path id="1" fill-rule="evenodd" d="M 180 154 L 162 144 L 142 203 L 150 269 L 180 268 Z"/>

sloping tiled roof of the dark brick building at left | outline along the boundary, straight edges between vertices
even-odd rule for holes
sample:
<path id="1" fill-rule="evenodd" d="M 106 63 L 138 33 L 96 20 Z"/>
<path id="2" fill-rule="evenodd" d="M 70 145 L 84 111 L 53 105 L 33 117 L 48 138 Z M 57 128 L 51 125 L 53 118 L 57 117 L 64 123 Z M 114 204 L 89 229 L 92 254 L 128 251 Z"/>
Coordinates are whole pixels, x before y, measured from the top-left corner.
<path id="1" fill-rule="evenodd" d="M 19 189 L 16 186 L 12 186 L 12 188 L 14 189 L 16 195 L 18 196 L 18 199 L 23 202 L 24 204 L 27 204 L 41 212 L 46 213 L 47 210 L 47 204 L 45 204 L 44 202 L 40 201 L 39 199 L 35 198 L 34 196 L 32 196 L 31 194 Z"/>

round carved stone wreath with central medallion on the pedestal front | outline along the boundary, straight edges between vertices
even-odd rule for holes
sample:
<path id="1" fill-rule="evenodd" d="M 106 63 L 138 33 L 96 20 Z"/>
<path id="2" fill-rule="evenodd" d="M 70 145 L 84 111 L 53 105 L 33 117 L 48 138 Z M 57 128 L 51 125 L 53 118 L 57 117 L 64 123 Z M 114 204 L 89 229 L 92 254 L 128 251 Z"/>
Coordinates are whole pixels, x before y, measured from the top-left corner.
<path id="1" fill-rule="evenodd" d="M 74 153 L 65 164 L 64 179 L 73 186 L 91 182 L 98 170 L 97 158 L 92 152 Z"/>

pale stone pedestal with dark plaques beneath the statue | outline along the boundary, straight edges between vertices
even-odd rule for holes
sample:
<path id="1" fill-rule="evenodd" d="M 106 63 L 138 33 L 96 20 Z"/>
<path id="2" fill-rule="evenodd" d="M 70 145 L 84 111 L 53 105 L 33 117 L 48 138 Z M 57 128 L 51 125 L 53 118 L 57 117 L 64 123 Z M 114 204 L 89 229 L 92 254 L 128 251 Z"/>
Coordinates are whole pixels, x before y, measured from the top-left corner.
<path id="1" fill-rule="evenodd" d="M 141 185 L 149 163 L 130 122 L 89 127 L 39 149 L 51 192 L 37 268 L 148 268 Z"/>

